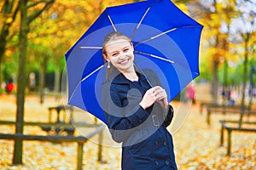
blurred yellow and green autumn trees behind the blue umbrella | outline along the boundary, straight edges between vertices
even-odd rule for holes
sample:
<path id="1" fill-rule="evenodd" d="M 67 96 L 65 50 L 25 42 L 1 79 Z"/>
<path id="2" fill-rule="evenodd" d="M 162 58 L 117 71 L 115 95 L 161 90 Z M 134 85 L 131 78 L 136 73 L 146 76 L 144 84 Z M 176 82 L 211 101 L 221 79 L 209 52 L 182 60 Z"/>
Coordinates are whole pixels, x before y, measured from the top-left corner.
<path id="1" fill-rule="evenodd" d="M 2 1 L 0 40 L 0 93 L 61 92 L 64 54 L 107 6 L 136 1 Z M 46 1 L 47 2 L 47 1 Z M 236 97 L 255 93 L 255 2 L 251 0 L 173 1 L 200 22 L 200 71 L 196 83 L 210 83 L 212 101 L 234 90 Z M 47 5 L 46 5 L 47 4 Z M 20 20 L 20 10 L 26 21 Z M 24 13 L 25 14 L 25 13 Z M 20 80 L 20 81 L 19 81 Z M 14 87 L 7 90 L 9 82 Z M 64 81 L 65 82 L 65 81 Z M 17 84 L 20 83 L 20 89 Z M 21 86 L 22 85 L 22 86 Z M 66 88 L 66 84 L 62 84 Z M 244 96 L 245 95 L 245 96 Z M 241 99 L 236 98 L 236 102 Z"/>

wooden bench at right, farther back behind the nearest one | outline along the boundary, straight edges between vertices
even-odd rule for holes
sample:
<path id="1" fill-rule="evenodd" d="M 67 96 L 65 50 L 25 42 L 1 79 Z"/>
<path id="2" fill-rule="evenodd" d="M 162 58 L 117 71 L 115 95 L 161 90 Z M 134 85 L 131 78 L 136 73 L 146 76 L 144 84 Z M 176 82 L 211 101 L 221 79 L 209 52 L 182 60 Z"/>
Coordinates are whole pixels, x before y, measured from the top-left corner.
<path id="1" fill-rule="evenodd" d="M 241 111 L 241 107 L 240 106 L 211 106 L 211 105 L 207 105 L 207 124 L 210 125 L 211 124 L 211 115 L 212 113 L 222 113 L 222 114 L 226 114 L 226 113 L 230 113 L 230 114 L 242 114 L 242 115 L 256 115 L 256 111 L 255 110 L 249 110 L 248 108 L 245 108 L 244 111 Z"/>

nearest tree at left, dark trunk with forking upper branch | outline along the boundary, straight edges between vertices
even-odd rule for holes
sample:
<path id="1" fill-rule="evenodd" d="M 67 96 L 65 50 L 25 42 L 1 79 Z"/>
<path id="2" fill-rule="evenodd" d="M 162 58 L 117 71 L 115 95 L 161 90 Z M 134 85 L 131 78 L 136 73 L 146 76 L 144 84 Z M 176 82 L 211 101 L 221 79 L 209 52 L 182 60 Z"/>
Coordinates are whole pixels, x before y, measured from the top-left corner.
<path id="1" fill-rule="evenodd" d="M 49 1 L 19 1 L 20 10 L 20 36 L 19 36 L 19 72 L 16 96 L 16 126 L 15 133 L 23 133 L 24 122 L 24 102 L 25 102 L 25 88 L 26 88 L 26 54 L 27 54 L 27 34 L 30 31 L 30 24 L 43 11 L 54 3 L 54 0 Z M 22 163 L 23 142 L 21 139 L 15 139 L 15 150 L 13 163 Z"/>

